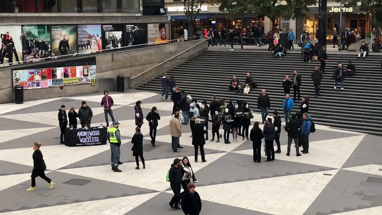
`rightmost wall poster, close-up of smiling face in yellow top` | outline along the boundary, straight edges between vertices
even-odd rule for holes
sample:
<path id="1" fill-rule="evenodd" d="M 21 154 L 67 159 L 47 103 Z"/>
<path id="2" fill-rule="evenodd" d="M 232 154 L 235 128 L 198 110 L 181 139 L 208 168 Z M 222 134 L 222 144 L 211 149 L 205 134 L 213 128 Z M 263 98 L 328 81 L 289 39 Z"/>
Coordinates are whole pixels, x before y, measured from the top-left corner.
<path id="1" fill-rule="evenodd" d="M 166 44 L 168 41 L 168 23 L 147 24 L 147 42 L 152 44 Z"/>

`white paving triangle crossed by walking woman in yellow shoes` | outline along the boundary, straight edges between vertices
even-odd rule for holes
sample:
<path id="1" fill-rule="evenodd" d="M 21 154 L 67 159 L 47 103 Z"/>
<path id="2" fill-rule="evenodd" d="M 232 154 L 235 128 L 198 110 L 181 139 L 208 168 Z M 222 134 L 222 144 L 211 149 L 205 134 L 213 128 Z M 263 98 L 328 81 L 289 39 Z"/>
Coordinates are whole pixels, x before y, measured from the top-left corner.
<path id="1" fill-rule="evenodd" d="M 129 139 L 122 140 L 122 144 L 129 141 Z M 47 169 L 50 170 L 59 169 L 88 158 L 92 155 L 101 153 L 102 151 L 110 150 L 109 144 L 84 147 L 67 147 L 65 145 L 53 145 L 44 147 L 44 143 L 42 144 L 43 146 L 41 147 L 41 152 L 44 156 L 44 161 L 47 165 Z M 32 154 L 32 145 L 30 148 L 5 149 L 0 150 L 0 160 L 33 166 Z M 105 158 L 105 161 L 106 160 L 108 161 L 110 158 Z"/>

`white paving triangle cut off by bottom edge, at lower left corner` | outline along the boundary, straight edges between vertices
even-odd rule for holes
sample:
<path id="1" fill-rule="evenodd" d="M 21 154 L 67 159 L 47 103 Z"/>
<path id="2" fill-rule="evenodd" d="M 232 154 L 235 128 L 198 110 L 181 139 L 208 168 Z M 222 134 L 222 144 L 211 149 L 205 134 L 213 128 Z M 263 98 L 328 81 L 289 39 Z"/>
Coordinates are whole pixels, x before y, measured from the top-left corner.
<path id="1" fill-rule="evenodd" d="M 159 192 L 2 213 L 2 215 L 123 215 Z"/>

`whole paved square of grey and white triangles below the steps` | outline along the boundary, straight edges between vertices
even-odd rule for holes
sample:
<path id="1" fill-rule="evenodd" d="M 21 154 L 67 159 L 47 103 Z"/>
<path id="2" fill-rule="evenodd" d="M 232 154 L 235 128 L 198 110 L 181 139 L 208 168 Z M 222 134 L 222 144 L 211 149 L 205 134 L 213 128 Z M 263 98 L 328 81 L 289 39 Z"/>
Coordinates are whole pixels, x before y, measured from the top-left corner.
<path id="1" fill-rule="evenodd" d="M 110 92 L 114 117 L 120 122 L 124 162 L 122 173 L 115 173 L 110 167 L 109 144 L 60 144 L 60 106 L 78 110 L 84 100 L 94 114 L 92 126 L 105 125 L 102 96 L 0 104 L 1 215 L 182 215 L 168 207 L 172 191 L 165 178 L 173 159 L 183 156 L 189 157 L 199 180 L 201 215 L 382 215 L 381 137 L 316 124 L 316 132 L 309 137 L 309 154 L 303 156 L 295 156 L 293 148 L 290 157 L 285 155 L 287 134 L 282 129 L 282 153 L 276 154 L 275 162 L 254 163 L 252 142 L 238 138 L 239 143 L 232 144 L 207 141 L 207 162 L 194 163 L 189 125 L 182 125 L 184 149 L 181 153 L 171 150 L 171 102 L 155 93 Z M 142 126 L 146 169 L 139 170 L 134 169 L 130 142 L 138 100 L 145 117 L 152 106 L 161 117 L 155 148 L 150 144 L 147 121 Z M 256 104 L 250 105 L 254 110 Z M 256 114 L 253 121 L 261 121 L 261 116 Z M 26 191 L 31 185 L 34 142 L 42 143 L 45 173 L 55 182 L 54 189 L 37 178 L 35 191 Z"/>

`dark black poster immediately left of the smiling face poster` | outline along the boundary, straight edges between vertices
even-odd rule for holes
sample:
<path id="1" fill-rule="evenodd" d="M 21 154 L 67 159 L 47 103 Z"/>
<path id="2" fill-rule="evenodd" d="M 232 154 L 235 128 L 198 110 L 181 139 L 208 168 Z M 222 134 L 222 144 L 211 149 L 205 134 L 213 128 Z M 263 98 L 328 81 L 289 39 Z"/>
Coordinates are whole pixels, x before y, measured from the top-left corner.
<path id="1" fill-rule="evenodd" d="M 147 24 L 126 24 L 126 45 L 138 46 L 147 44 Z"/>

